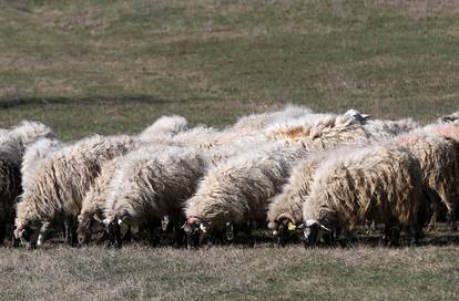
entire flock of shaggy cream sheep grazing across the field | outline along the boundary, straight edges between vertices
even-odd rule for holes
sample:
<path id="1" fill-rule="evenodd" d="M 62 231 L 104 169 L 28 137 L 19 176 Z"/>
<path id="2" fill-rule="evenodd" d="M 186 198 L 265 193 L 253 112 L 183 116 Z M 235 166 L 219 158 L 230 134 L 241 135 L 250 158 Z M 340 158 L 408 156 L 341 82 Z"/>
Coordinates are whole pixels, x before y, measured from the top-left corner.
<path id="1" fill-rule="evenodd" d="M 384 225 L 416 243 L 437 220 L 456 229 L 459 113 L 427 126 L 355 110 L 303 106 L 254 114 L 225 129 L 163 116 L 135 136 L 60 142 L 45 125 L 0 129 L 0 242 L 132 238 L 175 246 L 232 241 L 268 227 L 284 246 L 334 245 Z"/>

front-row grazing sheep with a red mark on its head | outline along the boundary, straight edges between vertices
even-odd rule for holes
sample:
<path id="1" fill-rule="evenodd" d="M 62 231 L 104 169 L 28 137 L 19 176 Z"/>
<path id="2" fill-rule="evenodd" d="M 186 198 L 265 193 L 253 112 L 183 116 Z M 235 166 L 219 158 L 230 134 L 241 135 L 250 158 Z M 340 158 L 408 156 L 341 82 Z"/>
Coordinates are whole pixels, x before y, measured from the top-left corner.
<path id="1" fill-rule="evenodd" d="M 300 147 L 262 145 L 210 168 L 185 205 L 188 247 L 200 245 L 207 232 L 226 230 L 232 240 L 233 227 L 264 222 L 268 200 L 280 191 L 292 165 L 305 154 Z"/>

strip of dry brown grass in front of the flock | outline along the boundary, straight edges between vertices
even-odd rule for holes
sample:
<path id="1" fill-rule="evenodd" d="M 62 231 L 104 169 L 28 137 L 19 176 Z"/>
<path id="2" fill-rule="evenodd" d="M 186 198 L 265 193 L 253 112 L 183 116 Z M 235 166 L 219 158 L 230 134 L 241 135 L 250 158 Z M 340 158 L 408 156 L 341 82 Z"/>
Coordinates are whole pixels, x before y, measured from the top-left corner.
<path id="1" fill-rule="evenodd" d="M 3 300 L 455 300 L 456 246 L 0 250 Z"/>

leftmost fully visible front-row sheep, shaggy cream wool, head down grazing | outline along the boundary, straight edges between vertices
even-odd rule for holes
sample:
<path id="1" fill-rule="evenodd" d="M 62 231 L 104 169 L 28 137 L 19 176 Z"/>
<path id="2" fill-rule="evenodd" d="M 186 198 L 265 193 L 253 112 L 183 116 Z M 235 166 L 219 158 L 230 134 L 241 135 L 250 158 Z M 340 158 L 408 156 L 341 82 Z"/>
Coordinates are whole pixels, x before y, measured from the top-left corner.
<path id="1" fill-rule="evenodd" d="M 70 228 L 68 241 L 74 246 L 82 198 L 99 175 L 100 166 L 136 147 L 139 142 L 129 136 L 94 135 L 45 158 L 17 206 L 16 238 L 35 247 L 42 221 L 65 221 Z"/>

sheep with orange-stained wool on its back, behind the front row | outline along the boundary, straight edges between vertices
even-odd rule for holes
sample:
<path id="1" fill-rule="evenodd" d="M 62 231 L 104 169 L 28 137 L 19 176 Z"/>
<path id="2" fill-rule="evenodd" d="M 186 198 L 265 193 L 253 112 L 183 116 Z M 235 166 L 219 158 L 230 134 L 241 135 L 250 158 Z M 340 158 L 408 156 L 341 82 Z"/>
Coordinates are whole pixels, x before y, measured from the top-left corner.
<path id="1" fill-rule="evenodd" d="M 267 127 L 266 136 L 269 141 L 299 143 L 309 152 L 370 141 L 368 133 L 354 117 L 336 114 L 309 114 L 273 124 Z"/>

